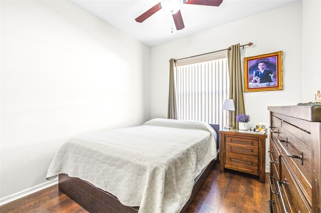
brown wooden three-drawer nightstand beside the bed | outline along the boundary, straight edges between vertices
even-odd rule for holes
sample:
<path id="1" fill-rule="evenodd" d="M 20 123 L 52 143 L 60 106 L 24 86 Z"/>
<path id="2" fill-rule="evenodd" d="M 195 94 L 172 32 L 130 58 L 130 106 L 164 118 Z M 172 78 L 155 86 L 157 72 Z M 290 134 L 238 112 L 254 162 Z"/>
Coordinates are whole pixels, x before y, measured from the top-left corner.
<path id="1" fill-rule="evenodd" d="M 267 134 L 250 130 L 220 130 L 220 172 L 225 168 L 259 176 L 265 182 Z"/>

